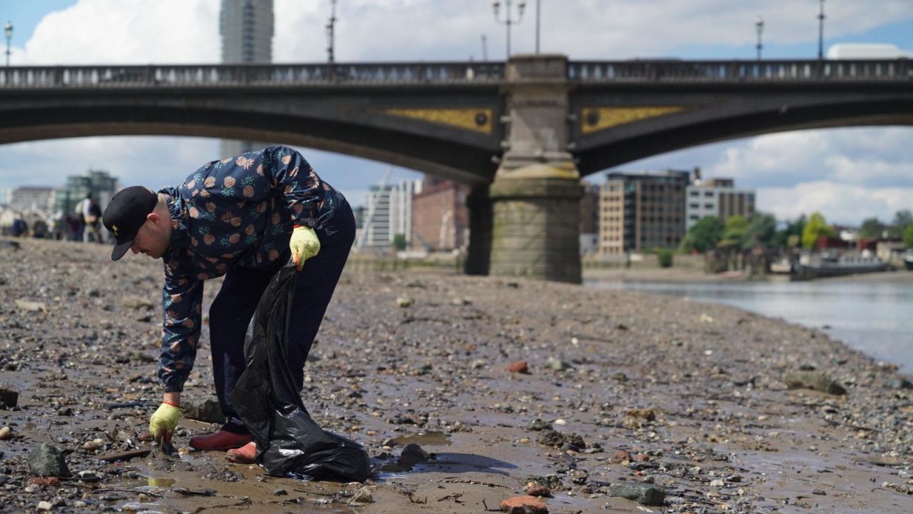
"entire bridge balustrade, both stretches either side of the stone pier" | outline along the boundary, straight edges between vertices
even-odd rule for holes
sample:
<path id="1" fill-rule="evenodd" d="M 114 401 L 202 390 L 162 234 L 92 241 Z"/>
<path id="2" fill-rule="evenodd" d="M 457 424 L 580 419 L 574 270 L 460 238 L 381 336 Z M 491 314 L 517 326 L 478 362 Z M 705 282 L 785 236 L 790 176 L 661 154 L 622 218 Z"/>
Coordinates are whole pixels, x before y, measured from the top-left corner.
<path id="1" fill-rule="evenodd" d="M 0 89 L 496 84 L 501 62 L 38 66 L 0 68 Z M 568 79 L 609 82 L 913 81 L 913 60 L 571 61 Z"/>

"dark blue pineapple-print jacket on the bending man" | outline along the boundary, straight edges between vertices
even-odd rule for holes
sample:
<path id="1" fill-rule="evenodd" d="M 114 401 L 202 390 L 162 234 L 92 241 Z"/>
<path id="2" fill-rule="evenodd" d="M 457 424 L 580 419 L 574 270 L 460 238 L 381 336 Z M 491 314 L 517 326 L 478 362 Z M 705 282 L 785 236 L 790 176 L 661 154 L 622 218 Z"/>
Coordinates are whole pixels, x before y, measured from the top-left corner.
<path id="1" fill-rule="evenodd" d="M 234 266 L 287 262 L 293 227 L 319 229 L 344 198 L 282 146 L 213 161 L 160 192 L 168 196 L 172 240 L 163 255 L 158 375 L 165 391 L 182 391 L 200 339 L 203 283 Z"/>

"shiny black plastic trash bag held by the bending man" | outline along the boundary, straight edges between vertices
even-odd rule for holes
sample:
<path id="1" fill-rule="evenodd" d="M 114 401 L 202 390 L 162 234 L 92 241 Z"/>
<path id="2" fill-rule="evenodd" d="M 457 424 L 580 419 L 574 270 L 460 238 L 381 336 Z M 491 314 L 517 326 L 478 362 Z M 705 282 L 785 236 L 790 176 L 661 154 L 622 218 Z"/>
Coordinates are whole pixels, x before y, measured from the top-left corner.
<path id="1" fill-rule="evenodd" d="M 229 402 L 253 435 L 257 464 L 268 474 L 363 482 L 370 474 L 368 454 L 310 419 L 286 366 L 297 274 L 294 265 L 283 267 L 260 297 L 245 337 L 247 368 Z"/>

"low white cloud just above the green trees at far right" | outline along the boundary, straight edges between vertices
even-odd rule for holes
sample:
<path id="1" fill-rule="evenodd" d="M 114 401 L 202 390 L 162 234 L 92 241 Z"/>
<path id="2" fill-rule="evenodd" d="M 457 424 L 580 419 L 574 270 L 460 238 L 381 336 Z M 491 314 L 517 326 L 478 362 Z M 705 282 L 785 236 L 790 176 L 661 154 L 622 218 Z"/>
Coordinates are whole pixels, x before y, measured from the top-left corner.
<path id="1" fill-rule="evenodd" d="M 872 217 L 889 221 L 898 210 L 913 209 L 913 187 L 803 182 L 793 187 L 760 187 L 757 203 L 778 220 L 820 212 L 832 223 L 853 224 Z"/>

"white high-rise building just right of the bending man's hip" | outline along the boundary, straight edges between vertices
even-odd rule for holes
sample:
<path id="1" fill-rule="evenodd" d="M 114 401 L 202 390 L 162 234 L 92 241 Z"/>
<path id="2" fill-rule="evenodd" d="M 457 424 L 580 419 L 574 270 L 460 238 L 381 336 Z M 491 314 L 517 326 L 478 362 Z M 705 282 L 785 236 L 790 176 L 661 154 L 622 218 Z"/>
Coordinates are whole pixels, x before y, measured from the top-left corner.
<path id="1" fill-rule="evenodd" d="M 419 180 L 404 180 L 395 186 L 372 186 L 364 198 L 365 214 L 359 244 L 368 248 L 390 248 L 396 236 L 412 240 L 412 198 L 422 192 Z"/>

